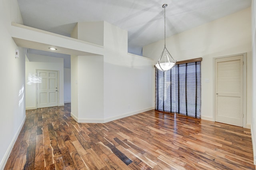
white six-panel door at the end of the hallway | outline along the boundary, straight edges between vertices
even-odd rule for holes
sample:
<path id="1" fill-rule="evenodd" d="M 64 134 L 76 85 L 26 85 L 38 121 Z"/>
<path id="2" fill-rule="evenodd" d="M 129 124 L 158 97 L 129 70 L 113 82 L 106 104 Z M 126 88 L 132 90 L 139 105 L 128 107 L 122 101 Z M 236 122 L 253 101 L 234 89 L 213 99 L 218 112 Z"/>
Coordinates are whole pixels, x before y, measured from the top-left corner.
<path id="1" fill-rule="evenodd" d="M 58 71 L 37 70 L 37 108 L 58 106 Z"/>

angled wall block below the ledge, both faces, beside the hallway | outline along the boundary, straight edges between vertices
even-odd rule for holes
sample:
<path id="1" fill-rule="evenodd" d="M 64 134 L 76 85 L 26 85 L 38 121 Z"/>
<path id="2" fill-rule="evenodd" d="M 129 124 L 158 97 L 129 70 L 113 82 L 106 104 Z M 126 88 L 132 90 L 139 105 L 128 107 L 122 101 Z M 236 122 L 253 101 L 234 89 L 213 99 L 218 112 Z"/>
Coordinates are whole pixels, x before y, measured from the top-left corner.
<path id="1" fill-rule="evenodd" d="M 103 122 L 103 103 L 103 56 L 71 56 L 72 117 Z"/>

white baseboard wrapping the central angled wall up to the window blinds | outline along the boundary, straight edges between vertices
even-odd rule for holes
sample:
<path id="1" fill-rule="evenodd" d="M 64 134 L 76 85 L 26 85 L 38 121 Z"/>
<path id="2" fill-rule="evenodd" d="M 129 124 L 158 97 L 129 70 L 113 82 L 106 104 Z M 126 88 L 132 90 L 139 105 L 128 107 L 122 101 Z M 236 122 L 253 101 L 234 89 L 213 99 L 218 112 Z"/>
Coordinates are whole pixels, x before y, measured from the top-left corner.
<path id="1" fill-rule="evenodd" d="M 106 122 L 110 122 L 110 121 L 114 121 L 117 119 L 121 119 L 124 117 L 128 117 L 128 116 L 132 116 L 132 115 L 136 115 L 138 113 L 142 113 L 145 111 L 150 111 L 152 109 L 155 109 L 155 107 L 148 107 L 145 109 L 141 109 L 138 111 L 133 111 L 133 112 L 129 112 L 129 113 L 124 113 L 122 115 L 117 115 L 117 116 L 113 116 L 113 117 L 108 117 L 108 118 L 104 118 L 104 119 L 86 119 L 86 118 L 78 118 L 76 117 L 76 115 L 74 115 L 73 113 L 71 113 L 71 116 L 75 119 L 75 121 L 77 121 L 78 123 L 106 123 Z"/>

